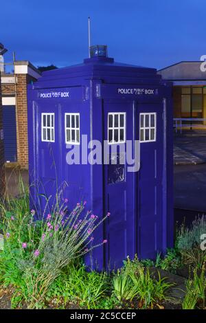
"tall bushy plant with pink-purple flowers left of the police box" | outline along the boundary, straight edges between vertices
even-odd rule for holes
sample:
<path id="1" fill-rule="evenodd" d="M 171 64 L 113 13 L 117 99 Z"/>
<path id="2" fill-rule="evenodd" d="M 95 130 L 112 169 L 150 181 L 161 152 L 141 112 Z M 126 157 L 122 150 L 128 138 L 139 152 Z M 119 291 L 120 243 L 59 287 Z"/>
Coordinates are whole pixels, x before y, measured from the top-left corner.
<path id="1" fill-rule="evenodd" d="M 28 307 L 41 306 L 62 269 L 102 245 L 103 241 L 93 245 L 92 234 L 106 216 L 98 221 L 97 216 L 83 212 L 84 203 L 78 203 L 69 215 L 62 204 L 58 212 L 34 221 L 27 194 L 6 206 L 1 204 L 1 230 L 5 238 L 0 253 L 1 280 L 4 285 L 18 287 Z"/>

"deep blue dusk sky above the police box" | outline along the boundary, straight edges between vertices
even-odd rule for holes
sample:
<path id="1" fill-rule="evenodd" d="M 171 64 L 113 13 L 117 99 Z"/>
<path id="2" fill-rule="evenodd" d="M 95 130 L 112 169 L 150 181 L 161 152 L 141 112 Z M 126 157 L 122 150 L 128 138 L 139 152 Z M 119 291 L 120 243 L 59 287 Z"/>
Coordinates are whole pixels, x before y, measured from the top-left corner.
<path id="1" fill-rule="evenodd" d="M 30 60 L 58 67 L 108 45 L 117 62 L 162 67 L 206 54 L 205 0 L 6 0 L 0 1 L 0 43 L 5 61 Z"/>

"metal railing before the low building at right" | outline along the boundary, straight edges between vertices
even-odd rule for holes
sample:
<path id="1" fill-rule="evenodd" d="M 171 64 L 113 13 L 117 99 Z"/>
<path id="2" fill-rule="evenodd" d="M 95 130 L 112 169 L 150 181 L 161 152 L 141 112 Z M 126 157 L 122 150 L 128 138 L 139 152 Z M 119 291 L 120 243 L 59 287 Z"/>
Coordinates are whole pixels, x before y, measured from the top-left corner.
<path id="1" fill-rule="evenodd" d="M 205 122 L 205 124 L 194 124 L 193 122 Z M 206 129 L 206 119 L 204 118 L 174 118 L 173 119 L 173 127 L 175 128 L 175 132 L 177 133 L 178 130 L 182 133 L 183 129 Z"/>

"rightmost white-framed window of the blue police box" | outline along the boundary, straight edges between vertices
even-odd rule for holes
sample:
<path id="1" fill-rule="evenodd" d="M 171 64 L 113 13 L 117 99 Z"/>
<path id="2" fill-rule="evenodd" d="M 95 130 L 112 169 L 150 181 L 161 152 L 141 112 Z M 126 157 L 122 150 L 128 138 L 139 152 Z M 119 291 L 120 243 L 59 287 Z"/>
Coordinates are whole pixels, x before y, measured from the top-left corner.
<path id="1" fill-rule="evenodd" d="M 139 114 L 140 142 L 156 142 L 157 113 Z"/>

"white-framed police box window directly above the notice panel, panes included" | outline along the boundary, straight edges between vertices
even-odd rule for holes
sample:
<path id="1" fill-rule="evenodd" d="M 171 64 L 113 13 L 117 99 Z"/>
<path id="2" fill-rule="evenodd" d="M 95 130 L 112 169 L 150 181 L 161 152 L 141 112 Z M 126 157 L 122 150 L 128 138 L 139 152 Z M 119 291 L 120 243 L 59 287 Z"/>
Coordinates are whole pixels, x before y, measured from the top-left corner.
<path id="1" fill-rule="evenodd" d="M 126 112 L 108 113 L 108 144 L 126 142 Z"/>

